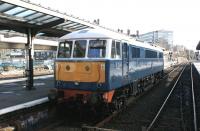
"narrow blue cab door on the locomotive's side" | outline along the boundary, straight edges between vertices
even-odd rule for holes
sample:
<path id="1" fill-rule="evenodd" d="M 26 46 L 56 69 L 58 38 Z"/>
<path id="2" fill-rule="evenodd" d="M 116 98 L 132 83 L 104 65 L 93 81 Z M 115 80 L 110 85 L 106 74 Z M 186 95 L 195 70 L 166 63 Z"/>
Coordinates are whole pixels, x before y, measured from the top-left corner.
<path id="1" fill-rule="evenodd" d="M 128 79 L 128 67 L 129 67 L 129 59 L 128 59 L 128 44 L 122 44 L 122 76 L 124 80 Z"/>

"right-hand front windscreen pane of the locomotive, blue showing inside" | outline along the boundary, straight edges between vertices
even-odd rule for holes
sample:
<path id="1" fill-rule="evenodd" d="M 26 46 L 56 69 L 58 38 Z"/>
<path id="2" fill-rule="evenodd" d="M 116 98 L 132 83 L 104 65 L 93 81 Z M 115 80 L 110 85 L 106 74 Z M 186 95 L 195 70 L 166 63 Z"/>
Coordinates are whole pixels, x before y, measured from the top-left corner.
<path id="1" fill-rule="evenodd" d="M 106 40 L 90 40 L 88 47 L 89 58 L 104 58 L 106 56 Z"/>

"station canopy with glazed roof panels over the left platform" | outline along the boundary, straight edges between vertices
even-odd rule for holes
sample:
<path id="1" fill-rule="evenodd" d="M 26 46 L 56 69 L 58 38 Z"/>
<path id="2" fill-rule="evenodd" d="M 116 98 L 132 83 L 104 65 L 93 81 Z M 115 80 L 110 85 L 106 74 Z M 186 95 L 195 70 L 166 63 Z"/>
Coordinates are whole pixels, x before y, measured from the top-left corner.
<path id="1" fill-rule="evenodd" d="M 12 30 L 26 34 L 28 28 L 37 35 L 60 37 L 73 31 L 100 26 L 29 1 L 0 0 L 0 31 Z"/>

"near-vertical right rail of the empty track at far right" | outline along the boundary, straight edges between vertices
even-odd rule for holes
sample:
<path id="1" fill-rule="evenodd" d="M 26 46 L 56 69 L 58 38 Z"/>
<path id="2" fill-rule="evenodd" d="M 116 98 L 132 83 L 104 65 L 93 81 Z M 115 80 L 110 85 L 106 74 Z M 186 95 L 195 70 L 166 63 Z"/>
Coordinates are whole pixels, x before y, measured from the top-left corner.
<path id="1" fill-rule="evenodd" d="M 193 116 L 194 116 L 194 131 L 197 131 L 196 103 L 195 103 L 194 83 L 193 83 L 193 76 L 192 76 L 192 63 L 191 63 L 191 83 L 192 83 L 192 102 L 193 102 Z"/>

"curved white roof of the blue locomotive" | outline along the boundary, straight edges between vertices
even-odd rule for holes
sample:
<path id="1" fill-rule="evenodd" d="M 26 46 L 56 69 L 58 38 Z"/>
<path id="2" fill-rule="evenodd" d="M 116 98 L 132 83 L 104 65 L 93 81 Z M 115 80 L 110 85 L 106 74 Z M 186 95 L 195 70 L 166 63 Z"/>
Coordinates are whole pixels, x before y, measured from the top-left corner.
<path id="1" fill-rule="evenodd" d="M 152 46 L 149 43 L 140 42 L 140 41 L 135 40 L 135 38 L 129 37 L 127 35 L 109 31 L 109 30 L 103 30 L 103 29 L 83 29 L 83 30 L 75 31 L 70 34 L 62 36 L 60 40 L 62 41 L 62 40 L 69 40 L 69 39 L 96 39 L 96 38 L 124 40 L 131 45 L 163 52 L 161 48 Z"/>

